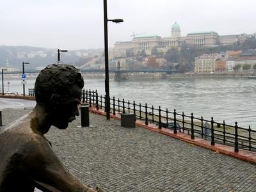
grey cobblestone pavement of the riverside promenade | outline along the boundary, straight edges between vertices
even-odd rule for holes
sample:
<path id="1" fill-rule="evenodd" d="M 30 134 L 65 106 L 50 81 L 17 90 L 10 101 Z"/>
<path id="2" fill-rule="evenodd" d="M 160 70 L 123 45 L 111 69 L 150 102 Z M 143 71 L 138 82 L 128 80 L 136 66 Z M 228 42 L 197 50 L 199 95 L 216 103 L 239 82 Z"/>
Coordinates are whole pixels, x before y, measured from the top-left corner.
<path id="1" fill-rule="evenodd" d="M 28 110 L 2 113 L 8 124 Z M 256 191 L 253 164 L 92 113 L 91 127 L 79 125 L 78 117 L 45 136 L 84 184 L 104 191 Z"/>

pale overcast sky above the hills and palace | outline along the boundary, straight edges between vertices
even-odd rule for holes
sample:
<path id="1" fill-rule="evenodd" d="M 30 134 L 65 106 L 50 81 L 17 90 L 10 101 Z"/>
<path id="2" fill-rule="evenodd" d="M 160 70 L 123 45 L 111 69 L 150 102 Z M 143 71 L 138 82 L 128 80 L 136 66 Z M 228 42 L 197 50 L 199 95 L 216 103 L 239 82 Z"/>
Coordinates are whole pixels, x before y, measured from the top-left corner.
<path id="1" fill-rule="evenodd" d="M 182 36 L 195 31 L 219 35 L 256 31 L 255 0 L 108 0 L 109 47 L 132 33 Z M 103 0 L 0 0 L 0 45 L 53 49 L 104 47 Z"/>

